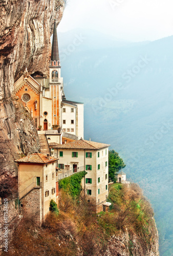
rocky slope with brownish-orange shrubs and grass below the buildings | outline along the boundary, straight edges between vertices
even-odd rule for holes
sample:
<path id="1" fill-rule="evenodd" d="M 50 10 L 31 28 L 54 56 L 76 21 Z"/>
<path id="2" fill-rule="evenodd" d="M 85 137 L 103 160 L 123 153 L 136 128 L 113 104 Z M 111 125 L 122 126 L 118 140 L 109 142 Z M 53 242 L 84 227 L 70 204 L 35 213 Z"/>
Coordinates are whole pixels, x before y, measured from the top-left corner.
<path id="1" fill-rule="evenodd" d="M 74 199 L 61 189 L 59 197 L 59 215 L 50 212 L 41 227 L 21 220 L 9 255 L 158 255 L 153 210 L 136 184 L 113 185 L 112 209 L 100 214 L 83 193 Z"/>

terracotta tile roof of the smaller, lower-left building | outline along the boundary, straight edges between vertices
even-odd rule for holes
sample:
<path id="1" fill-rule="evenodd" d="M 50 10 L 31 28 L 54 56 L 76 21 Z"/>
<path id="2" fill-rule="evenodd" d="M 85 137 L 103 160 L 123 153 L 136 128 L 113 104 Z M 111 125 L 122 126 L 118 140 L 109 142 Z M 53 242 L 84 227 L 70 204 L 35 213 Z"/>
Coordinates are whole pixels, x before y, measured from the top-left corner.
<path id="1" fill-rule="evenodd" d="M 15 162 L 20 163 L 49 163 L 52 161 L 56 161 L 57 158 L 50 157 L 50 159 L 47 158 L 46 155 L 40 154 L 40 153 L 34 153 L 32 155 L 28 155 L 26 157 L 20 158 L 15 160 Z"/>

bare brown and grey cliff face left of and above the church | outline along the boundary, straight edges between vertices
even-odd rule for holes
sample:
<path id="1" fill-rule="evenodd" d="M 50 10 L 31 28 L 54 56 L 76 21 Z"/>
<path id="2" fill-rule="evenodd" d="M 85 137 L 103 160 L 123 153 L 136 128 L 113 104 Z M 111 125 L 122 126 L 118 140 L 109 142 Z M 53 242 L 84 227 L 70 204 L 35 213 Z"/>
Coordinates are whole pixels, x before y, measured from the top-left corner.
<path id="1" fill-rule="evenodd" d="M 0 174 L 14 174 L 19 154 L 39 151 L 30 115 L 13 95 L 24 73 L 49 75 L 50 36 L 63 14 L 61 0 L 0 0 Z"/>

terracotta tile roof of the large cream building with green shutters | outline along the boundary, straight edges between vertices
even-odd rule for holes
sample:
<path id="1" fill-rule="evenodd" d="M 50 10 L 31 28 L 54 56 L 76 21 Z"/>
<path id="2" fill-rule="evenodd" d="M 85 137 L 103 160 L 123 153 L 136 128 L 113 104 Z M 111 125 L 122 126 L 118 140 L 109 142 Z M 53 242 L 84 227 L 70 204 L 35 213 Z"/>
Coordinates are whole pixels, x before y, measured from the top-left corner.
<path id="1" fill-rule="evenodd" d="M 100 148 L 110 146 L 109 144 L 98 143 L 89 140 L 77 140 L 67 144 L 58 144 L 57 146 L 50 146 L 54 148 L 71 148 L 78 150 L 99 150 Z"/>

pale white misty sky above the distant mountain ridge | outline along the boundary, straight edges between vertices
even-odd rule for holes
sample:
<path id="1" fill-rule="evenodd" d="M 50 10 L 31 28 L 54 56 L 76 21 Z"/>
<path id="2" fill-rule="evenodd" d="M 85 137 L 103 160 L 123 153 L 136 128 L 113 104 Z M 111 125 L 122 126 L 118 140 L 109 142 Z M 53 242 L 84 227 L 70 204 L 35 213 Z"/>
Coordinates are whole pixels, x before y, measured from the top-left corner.
<path id="1" fill-rule="evenodd" d="M 172 0 L 67 0 L 59 32 L 93 29 L 118 39 L 156 40 L 173 34 Z"/>

